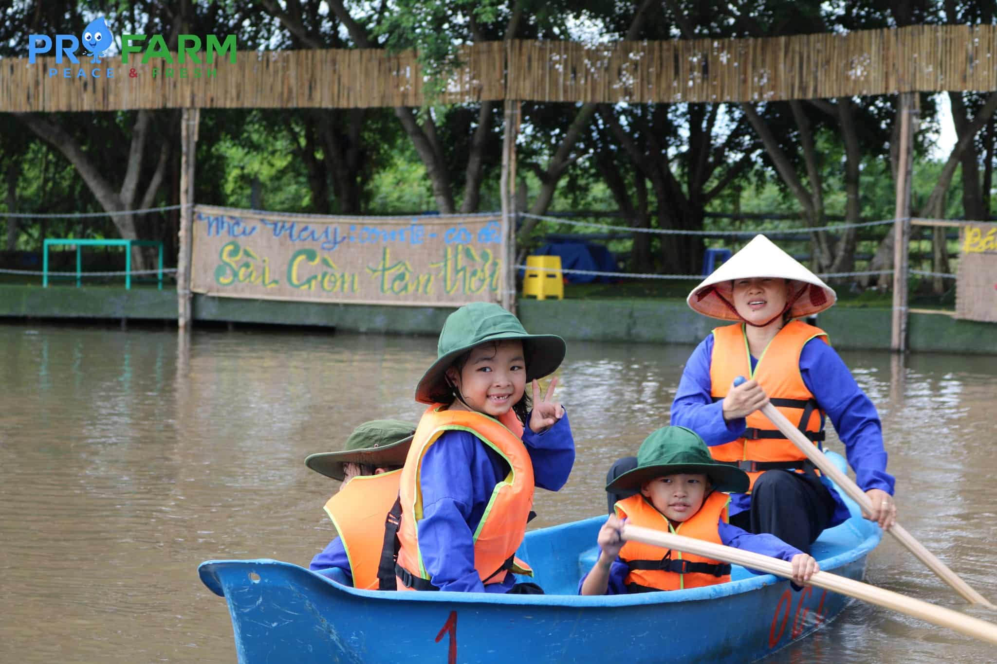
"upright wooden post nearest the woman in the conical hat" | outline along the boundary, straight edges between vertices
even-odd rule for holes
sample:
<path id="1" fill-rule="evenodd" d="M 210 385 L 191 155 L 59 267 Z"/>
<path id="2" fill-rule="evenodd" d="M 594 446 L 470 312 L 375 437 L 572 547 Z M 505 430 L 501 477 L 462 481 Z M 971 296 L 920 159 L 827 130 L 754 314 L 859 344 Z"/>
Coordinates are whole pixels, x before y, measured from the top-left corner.
<path id="1" fill-rule="evenodd" d="M 896 206 L 893 225 L 893 324 L 889 347 L 903 352 L 907 347 L 907 253 L 910 241 L 910 171 L 913 166 L 914 117 L 917 93 L 900 93 L 900 149 L 896 162 Z"/>

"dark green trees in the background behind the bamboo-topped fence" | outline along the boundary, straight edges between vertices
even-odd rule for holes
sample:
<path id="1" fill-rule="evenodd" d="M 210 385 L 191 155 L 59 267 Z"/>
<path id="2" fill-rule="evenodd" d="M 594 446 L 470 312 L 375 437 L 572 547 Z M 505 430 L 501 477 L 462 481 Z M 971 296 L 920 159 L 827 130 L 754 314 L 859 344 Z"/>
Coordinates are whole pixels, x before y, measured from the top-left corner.
<path id="1" fill-rule="evenodd" d="M 988 0 L 13 0 L 0 9 L 0 56 L 26 35 L 76 33 L 96 15 L 118 33 L 238 35 L 252 49 L 415 49 L 436 92 L 463 45 L 506 39 L 612 42 L 993 24 Z M 957 144 L 929 159 L 940 98 L 922 95 L 915 210 L 985 217 L 993 209 L 993 94 L 950 94 Z M 700 230 L 718 212 L 785 212 L 809 226 L 892 215 L 896 98 L 771 104 L 524 103 L 517 142 L 520 210 L 622 212 L 615 225 Z M 500 104 L 421 109 L 202 111 L 198 201 L 273 210 L 366 214 L 496 209 Z M 947 121 L 947 120 L 946 120 Z M 0 115 L 0 208 L 112 211 L 178 201 L 178 111 Z M 930 177 L 925 174 L 930 173 Z M 0 220 L 8 248 L 45 234 L 156 238 L 173 245 L 173 213 L 129 219 Z M 549 226 L 522 225 L 521 250 Z M 554 229 L 567 230 L 567 229 Z M 696 272 L 703 242 L 613 240 L 628 268 Z M 888 242 L 879 254 L 891 255 Z M 707 242 L 712 242 L 708 240 Z M 814 234 L 815 267 L 844 271 L 876 253 L 866 232 Z M 937 246 L 943 238 L 935 238 Z M 944 254 L 935 257 L 944 269 Z"/>

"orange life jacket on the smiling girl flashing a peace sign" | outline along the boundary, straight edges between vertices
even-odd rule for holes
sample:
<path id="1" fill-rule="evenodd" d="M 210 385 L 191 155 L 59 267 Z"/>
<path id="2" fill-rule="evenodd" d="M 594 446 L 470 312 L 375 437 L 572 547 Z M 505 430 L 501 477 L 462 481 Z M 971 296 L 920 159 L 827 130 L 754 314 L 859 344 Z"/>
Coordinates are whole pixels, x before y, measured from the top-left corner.
<path id="1" fill-rule="evenodd" d="M 526 522 L 533 503 L 533 465 L 520 439 L 522 424 L 511 410 L 495 419 L 479 412 L 441 410 L 444 407 L 444 404 L 435 403 L 423 413 L 402 469 L 402 517 L 398 529 L 400 549 L 395 567 L 398 589 L 438 589 L 433 585 L 419 551 L 418 524 L 423 517 L 420 471 L 426 451 L 447 431 L 474 434 L 483 444 L 498 452 L 510 468 L 505 479 L 496 485 L 474 534 L 475 568 L 482 582 L 501 582 L 505 579 L 506 570 L 531 575 L 532 570 L 514 558 L 515 550 L 526 533 Z M 462 471 L 467 472 L 463 468 L 454 469 L 454 472 Z"/>

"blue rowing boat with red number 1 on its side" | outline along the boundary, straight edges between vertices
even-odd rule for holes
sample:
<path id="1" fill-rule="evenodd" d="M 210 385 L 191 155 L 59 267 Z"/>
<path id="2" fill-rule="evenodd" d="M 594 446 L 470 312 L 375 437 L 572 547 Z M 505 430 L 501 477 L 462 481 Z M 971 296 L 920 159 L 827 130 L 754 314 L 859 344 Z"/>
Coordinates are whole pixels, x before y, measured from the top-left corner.
<path id="1" fill-rule="evenodd" d="M 837 455 L 835 462 L 843 467 Z M 846 499 L 847 500 L 847 499 Z M 860 517 L 815 544 L 822 569 L 860 579 L 879 528 Z M 357 590 L 277 560 L 208 560 L 200 578 L 224 596 L 235 649 L 258 662 L 746 662 L 813 632 L 847 597 L 734 566 L 705 588 L 582 597 L 604 517 L 532 531 L 519 556 L 545 595 Z"/>

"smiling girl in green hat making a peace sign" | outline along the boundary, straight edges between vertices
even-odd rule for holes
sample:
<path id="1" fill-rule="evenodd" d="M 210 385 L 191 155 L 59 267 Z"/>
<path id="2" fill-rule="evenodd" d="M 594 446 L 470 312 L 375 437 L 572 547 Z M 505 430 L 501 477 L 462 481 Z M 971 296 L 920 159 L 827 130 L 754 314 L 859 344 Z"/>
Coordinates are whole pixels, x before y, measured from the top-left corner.
<path id="1" fill-rule="evenodd" d="M 475 303 L 447 318 L 437 360 L 416 387 L 430 404 L 402 469 L 398 589 L 540 593 L 515 583 L 531 571 L 514 558 L 533 487 L 557 491 L 574 464 L 574 439 L 556 378 L 565 344 L 528 334 L 498 305 Z M 526 396 L 531 381 L 532 410 Z"/>

